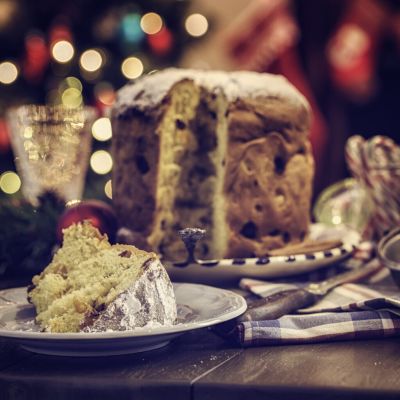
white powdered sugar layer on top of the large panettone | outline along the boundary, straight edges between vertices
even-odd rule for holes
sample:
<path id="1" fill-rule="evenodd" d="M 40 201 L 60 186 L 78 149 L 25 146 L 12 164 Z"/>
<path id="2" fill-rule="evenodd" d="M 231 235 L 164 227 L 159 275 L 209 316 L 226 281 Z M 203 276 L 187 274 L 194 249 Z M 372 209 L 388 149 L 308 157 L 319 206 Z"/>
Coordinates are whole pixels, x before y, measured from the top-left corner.
<path id="1" fill-rule="evenodd" d="M 308 107 L 303 95 L 281 75 L 168 68 L 124 86 L 118 92 L 115 110 L 117 114 L 123 114 L 130 108 L 141 111 L 153 108 L 175 83 L 183 79 L 193 80 L 210 91 L 222 90 L 229 101 L 239 97 L 278 97 Z"/>

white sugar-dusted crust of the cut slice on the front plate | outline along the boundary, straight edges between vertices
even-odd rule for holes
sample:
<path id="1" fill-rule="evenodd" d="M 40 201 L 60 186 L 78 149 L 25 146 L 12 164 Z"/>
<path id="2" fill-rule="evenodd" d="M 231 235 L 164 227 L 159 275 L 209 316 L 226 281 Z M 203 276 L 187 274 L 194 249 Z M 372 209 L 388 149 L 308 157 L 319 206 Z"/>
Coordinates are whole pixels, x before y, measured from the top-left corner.
<path id="1" fill-rule="evenodd" d="M 121 293 L 84 332 L 126 331 L 173 325 L 176 300 L 169 277 L 159 260 Z"/>

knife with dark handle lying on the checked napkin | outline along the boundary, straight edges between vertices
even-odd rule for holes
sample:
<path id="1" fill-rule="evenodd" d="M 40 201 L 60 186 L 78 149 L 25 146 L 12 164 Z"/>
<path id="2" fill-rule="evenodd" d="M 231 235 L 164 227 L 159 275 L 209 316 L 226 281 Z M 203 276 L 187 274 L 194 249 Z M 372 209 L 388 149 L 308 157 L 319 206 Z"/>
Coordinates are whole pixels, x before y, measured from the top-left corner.
<path id="1" fill-rule="evenodd" d="M 314 305 L 333 288 L 344 283 L 357 282 L 374 275 L 383 265 L 377 258 L 354 270 L 344 272 L 319 283 L 310 283 L 304 288 L 289 289 L 250 303 L 244 314 L 236 318 L 237 323 L 277 319 L 301 308 Z"/>

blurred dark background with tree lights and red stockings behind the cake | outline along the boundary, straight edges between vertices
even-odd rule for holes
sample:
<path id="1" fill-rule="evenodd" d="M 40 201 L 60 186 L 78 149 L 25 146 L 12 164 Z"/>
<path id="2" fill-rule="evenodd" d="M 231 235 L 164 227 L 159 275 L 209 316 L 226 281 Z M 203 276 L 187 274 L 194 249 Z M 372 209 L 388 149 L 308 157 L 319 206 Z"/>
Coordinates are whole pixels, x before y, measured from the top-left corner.
<path id="1" fill-rule="evenodd" d="M 21 197 L 10 107 L 94 106 L 84 197 L 109 200 L 116 92 L 168 66 L 285 75 L 313 108 L 316 194 L 349 136 L 400 139 L 398 0 L 0 0 L 0 202 Z"/>

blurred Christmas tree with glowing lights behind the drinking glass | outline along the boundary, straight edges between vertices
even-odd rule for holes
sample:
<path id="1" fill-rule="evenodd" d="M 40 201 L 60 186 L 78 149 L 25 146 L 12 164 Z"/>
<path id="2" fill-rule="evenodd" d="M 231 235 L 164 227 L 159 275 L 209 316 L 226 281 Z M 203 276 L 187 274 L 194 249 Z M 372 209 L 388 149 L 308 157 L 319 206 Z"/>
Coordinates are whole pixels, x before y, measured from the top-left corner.
<path id="1" fill-rule="evenodd" d="M 180 0 L 0 2 L 0 201 L 20 197 L 6 110 L 29 103 L 96 107 L 85 197 L 111 197 L 109 109 L 130 80 L 175 65 L 208 28 Z"/>

